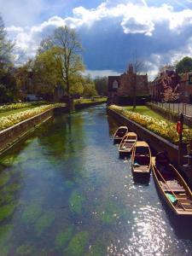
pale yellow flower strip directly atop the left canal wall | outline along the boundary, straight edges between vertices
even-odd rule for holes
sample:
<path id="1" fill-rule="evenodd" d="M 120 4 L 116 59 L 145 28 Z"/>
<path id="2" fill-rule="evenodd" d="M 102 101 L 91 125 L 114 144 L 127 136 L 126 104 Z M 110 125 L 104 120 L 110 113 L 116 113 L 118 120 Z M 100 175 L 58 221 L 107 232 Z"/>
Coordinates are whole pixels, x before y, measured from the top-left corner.
<path id="1" fill-rule="evenodd" d="M 33 116 L 43 113 L 44 111 L 55 108 L 55 107 L 62 107 L 64 104 L 62 103 L 56 103 L 56 104 L 49 104 L 49 105 L 43 105 L 37 108 L 32 108 L 29 110 L 22 111 L 20 113 L 13 113 L 9 114 L 8 116 L 1 117 L 0 118 L 0 131 L 3 131 L 6 128 L 9 128 L 12 125 L 16 125 L 20 123 L 21 121 L 24 121 L 26 119 L 32 118 Z"/>

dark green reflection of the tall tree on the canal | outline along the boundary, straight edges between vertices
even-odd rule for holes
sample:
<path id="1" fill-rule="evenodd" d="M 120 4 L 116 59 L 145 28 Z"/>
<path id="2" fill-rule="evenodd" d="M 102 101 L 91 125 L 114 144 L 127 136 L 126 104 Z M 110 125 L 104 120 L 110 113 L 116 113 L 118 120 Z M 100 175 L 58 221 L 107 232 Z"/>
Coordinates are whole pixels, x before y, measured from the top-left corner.
<path id="1" fill-rule="evenodd" d="M 81 157 L 86 143 L 83 125 L 82 113 L 63 114 L 38 131 L 38 143 L 44 149 L 45 160 L 72 181 L 78 180 L 85 169 L 84 157 Z"/>

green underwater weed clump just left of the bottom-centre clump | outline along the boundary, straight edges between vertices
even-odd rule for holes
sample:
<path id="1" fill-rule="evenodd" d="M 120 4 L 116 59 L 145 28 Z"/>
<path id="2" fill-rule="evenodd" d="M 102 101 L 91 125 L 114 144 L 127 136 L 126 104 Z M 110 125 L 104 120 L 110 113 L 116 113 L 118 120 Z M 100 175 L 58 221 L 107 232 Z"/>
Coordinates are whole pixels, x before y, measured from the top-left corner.
<path id="1" fill-rule="evenodd" d="M 73 235 L 73 226 L 68 227 L 66 230 L 61 231 L 55 237 L 55 247 L 58 249 L 65 248 L 68 241 Z"/>

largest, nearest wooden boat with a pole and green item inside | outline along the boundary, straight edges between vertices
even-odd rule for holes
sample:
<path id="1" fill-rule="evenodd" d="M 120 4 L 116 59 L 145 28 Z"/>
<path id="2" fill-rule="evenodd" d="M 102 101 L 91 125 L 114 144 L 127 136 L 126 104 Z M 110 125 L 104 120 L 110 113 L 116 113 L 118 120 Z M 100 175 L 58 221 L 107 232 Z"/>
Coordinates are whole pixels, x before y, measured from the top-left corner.
<path id="1" fill-rule="evenodd" d="M 192 215 L 192 193 L 177 169 L 168 164 L 169 177 L 165 177 L 153 163 L 154 181 L 164 201 L 177 215 Z"/>

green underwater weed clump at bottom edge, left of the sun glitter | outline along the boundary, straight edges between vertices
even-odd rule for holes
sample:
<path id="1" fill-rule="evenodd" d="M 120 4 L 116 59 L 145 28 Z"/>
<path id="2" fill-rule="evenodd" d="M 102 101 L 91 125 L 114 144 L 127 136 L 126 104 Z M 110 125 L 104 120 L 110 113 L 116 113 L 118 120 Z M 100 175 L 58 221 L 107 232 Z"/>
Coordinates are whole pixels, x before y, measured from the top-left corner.
<path id="1" fill-rule="evenodd" d="M 79 256 L 84 253 L 84 247 L 86 246 L 89 238 L 89 233 L 86 231 L 79 232 L 73 236 L 69 242 L 67 249 L 64 251 L 64 255 Z"/>

